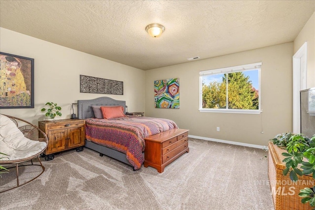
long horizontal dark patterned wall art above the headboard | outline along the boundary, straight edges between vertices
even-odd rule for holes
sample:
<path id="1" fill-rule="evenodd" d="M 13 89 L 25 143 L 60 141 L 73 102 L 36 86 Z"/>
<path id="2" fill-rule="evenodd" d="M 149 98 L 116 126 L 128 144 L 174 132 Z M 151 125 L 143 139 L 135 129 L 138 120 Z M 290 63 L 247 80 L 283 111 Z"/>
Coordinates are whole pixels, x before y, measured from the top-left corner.
<path id="1" fill-rule="evenodd" d="M 80 92 L 123 95 L 124 83 L 116 80 L 80 75 Z"/>

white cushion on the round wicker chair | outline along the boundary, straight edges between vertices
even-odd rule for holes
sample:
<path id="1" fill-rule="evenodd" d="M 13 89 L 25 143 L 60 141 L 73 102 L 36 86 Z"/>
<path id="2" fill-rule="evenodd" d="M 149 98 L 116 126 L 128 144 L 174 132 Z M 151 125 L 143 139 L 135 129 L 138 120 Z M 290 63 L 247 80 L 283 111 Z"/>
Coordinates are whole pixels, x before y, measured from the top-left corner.
<path id="1" fill-rule="evenodd" d="M 12 120 L 0 115 L 0 154 L 1 161 L 18 160 L 38 154 L 46 148 L 46 142 L 32 141 L 24 136 Z"/>

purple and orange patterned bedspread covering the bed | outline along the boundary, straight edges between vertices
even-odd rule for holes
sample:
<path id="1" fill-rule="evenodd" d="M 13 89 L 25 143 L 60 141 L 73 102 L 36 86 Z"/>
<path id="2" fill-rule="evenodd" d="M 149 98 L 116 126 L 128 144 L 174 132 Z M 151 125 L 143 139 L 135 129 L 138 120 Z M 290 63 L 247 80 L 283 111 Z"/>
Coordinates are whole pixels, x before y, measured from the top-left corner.
<path id="1" fill-rule="evenodd" d="M 139 169 L 144 162 L 144 138 L 166 130 L 178 128 L 172 120 L 149 117 L 121 117 L 85 120 L 86 139 L 99 145 L 121 151 L 127 160 Z"/>

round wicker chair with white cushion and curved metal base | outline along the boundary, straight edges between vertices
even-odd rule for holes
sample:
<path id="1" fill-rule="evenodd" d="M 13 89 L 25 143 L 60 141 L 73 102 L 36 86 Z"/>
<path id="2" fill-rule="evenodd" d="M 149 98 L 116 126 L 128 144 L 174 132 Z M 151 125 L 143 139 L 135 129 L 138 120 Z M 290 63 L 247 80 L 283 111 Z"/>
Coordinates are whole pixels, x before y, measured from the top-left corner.
<path id="1" fill-rule="evenodd" d="M 22 126 L 19 127 L 18 125 L 19 123 L 22 124 Z M 10 134 L 12 130 L 14 130 L 15 133 L 17 133 L 20 138 L 17 138 L 15 140 L 13 139 L 13 143 L 10 145 L 10 142 L 9 142 L 10 140 L 8 140 L 10 138 L 6 138 L 5 134 L 8 133 L 7 136 L 12 135 Z M 22 120 L 20 118 L 8 116 L 8 115 L 2 115 L 2 114 L 0 115 L 0 132 L 1 132 L 0 152 L 2 153 L 0 154 L 1 155 L 0 166 L 6 168 L 5 165 L 10 164 L 9 168 L 6 168 L 6 169 L 16 168 L 16 180 L 17 180 L 16 186 L 0 191 L 0 193 L 2 193 L 8 190 L 17 188 L 19 186 L 22 186 L 24 184 L 27 184 L 31 182 L 32 180 L 35 180 L 45 171 L 45 167 L 42 165 L 39 156 L 46 149 L 48 145 L 48 139 L 47 139 L 46 134 L 43 131 L 41 131 L 36 125 L 33 125 L 31 122 Z M 43 138 L 38 138 L 39 133 L 41 133 L 41 136 Z M 3 136 L 4 136 L 4 139 L 2 138 Z M 19 142 L 20 140 L 21 142 Z M 3 155 L 3 153 L 5 155 Z M 37 158 L 39 163 L 34 164 L 32 161 L 33 158 Z M 27 162 L 27 161 L 31 161 L 31 163 L 22 164 L 20 165 L 20 167 L 40 166 L 42 168 L 42 171 L 36 177 L 32 178 L 31 180 L 27 180 L 21 184 L 19 183 L 19 164 L 23 162 Z M 14 165 L 14 166 L 11 166 L 11 165 Z M 6 170 L 2 169 L 0 170 L 0 172 L 3 173 L 3 172 L 6 172 Z"/>

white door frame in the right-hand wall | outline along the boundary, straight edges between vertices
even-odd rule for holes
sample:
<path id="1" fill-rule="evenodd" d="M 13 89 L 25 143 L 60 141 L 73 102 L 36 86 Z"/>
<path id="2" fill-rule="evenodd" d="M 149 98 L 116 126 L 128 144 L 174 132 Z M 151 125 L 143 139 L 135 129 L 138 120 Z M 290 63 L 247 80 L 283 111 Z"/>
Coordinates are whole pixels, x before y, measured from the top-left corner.
<path id="1" fill-rule="evenodd" d="M 293 133 L 301 133 L 300 90 L 305 90 L 306 87 L 307 42 L 293 56 Z"/>

